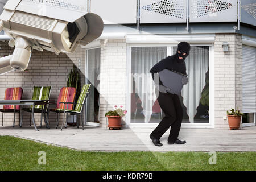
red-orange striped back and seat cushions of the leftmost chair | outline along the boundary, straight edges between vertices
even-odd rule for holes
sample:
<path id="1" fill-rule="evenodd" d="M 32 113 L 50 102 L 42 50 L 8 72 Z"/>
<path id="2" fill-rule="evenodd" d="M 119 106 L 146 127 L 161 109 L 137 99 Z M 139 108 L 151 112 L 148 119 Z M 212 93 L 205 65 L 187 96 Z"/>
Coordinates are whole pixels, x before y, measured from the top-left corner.
<path id="1" fill-rule="evenodd" d="M 21 87 L 7 88 L 5 90 L 5 100 L 22 100 L 23 89 Z M 14 109 L 14 105 L 3 105 L 3 109 Z M 20 106 L 16 105 L 19 110 Z"/>

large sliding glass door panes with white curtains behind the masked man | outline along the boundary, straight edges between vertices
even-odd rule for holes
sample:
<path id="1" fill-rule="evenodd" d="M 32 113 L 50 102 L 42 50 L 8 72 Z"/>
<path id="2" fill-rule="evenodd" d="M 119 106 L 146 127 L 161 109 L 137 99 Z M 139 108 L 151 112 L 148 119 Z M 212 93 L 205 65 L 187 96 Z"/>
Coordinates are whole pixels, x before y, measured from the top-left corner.
<path id="1" fill-rule="evenodd" d="M 164 117 L 150 69 L 177 47 L 131 47 L 130 123 L 159 123 Z M 171 53 L 171 54 L 172 54 Z M 185 60 L 188 84 L 180 101 L 184 123 L 209 123 L 209 46 L 192 46 Z"/>

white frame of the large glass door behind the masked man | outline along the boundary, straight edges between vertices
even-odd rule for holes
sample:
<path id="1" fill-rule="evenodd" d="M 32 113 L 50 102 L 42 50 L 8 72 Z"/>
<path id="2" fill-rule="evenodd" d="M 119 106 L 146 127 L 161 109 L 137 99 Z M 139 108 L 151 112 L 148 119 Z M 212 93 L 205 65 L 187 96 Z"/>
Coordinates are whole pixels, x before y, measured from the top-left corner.
<path id="1" fill-rule="evenodd" d="M 131 47 L 167 47 L 167 56 L 173 55 L 173 47 L 177 44 L 127 44 L 126 47 L 126 127 L 155 128 L 158 123 L 131 123 Z M 191 46 L 209 46 L 209 123 L 182 123 L 182 128 L 214 128 L 214 44 L 213 43 L 191 43 Z M 129 109 L 128 109 L 129 108 Z"/>

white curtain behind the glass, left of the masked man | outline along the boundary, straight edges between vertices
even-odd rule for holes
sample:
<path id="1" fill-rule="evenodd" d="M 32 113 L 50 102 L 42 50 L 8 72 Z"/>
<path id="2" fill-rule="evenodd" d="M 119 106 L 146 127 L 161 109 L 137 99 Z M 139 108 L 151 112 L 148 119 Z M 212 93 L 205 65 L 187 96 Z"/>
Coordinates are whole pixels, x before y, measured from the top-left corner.
<path id="1" fill-rule="evenodd" d="M 134 74 L 131 84 L 141 100 L 145 123 L 150 121 L 152 106 L 156 100 L 150 69 L 165 57 L 167 47 L 131 47 L 131 73 Z"/>

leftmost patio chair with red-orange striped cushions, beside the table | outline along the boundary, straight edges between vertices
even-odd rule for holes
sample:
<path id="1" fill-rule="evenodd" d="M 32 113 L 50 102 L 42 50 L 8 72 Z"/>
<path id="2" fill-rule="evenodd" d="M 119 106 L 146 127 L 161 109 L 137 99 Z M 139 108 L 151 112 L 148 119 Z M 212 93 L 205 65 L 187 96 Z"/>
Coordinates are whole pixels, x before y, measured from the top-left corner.
<path id="1" fill-rule="evenodd" d="M 5 90 L 5 100 L 22 100 L 23 89 L 21 87 L 7 88 Z M 13 127 L 15 125 L 16 112 L 20 115 L 20 105 L 3 105 L 3 109 L 0 109 L 2 113 L 2 126 L 3 126 L 3 113 L 14 113 Z M 20 122 L 20 117 L 19 117 Z"/>

